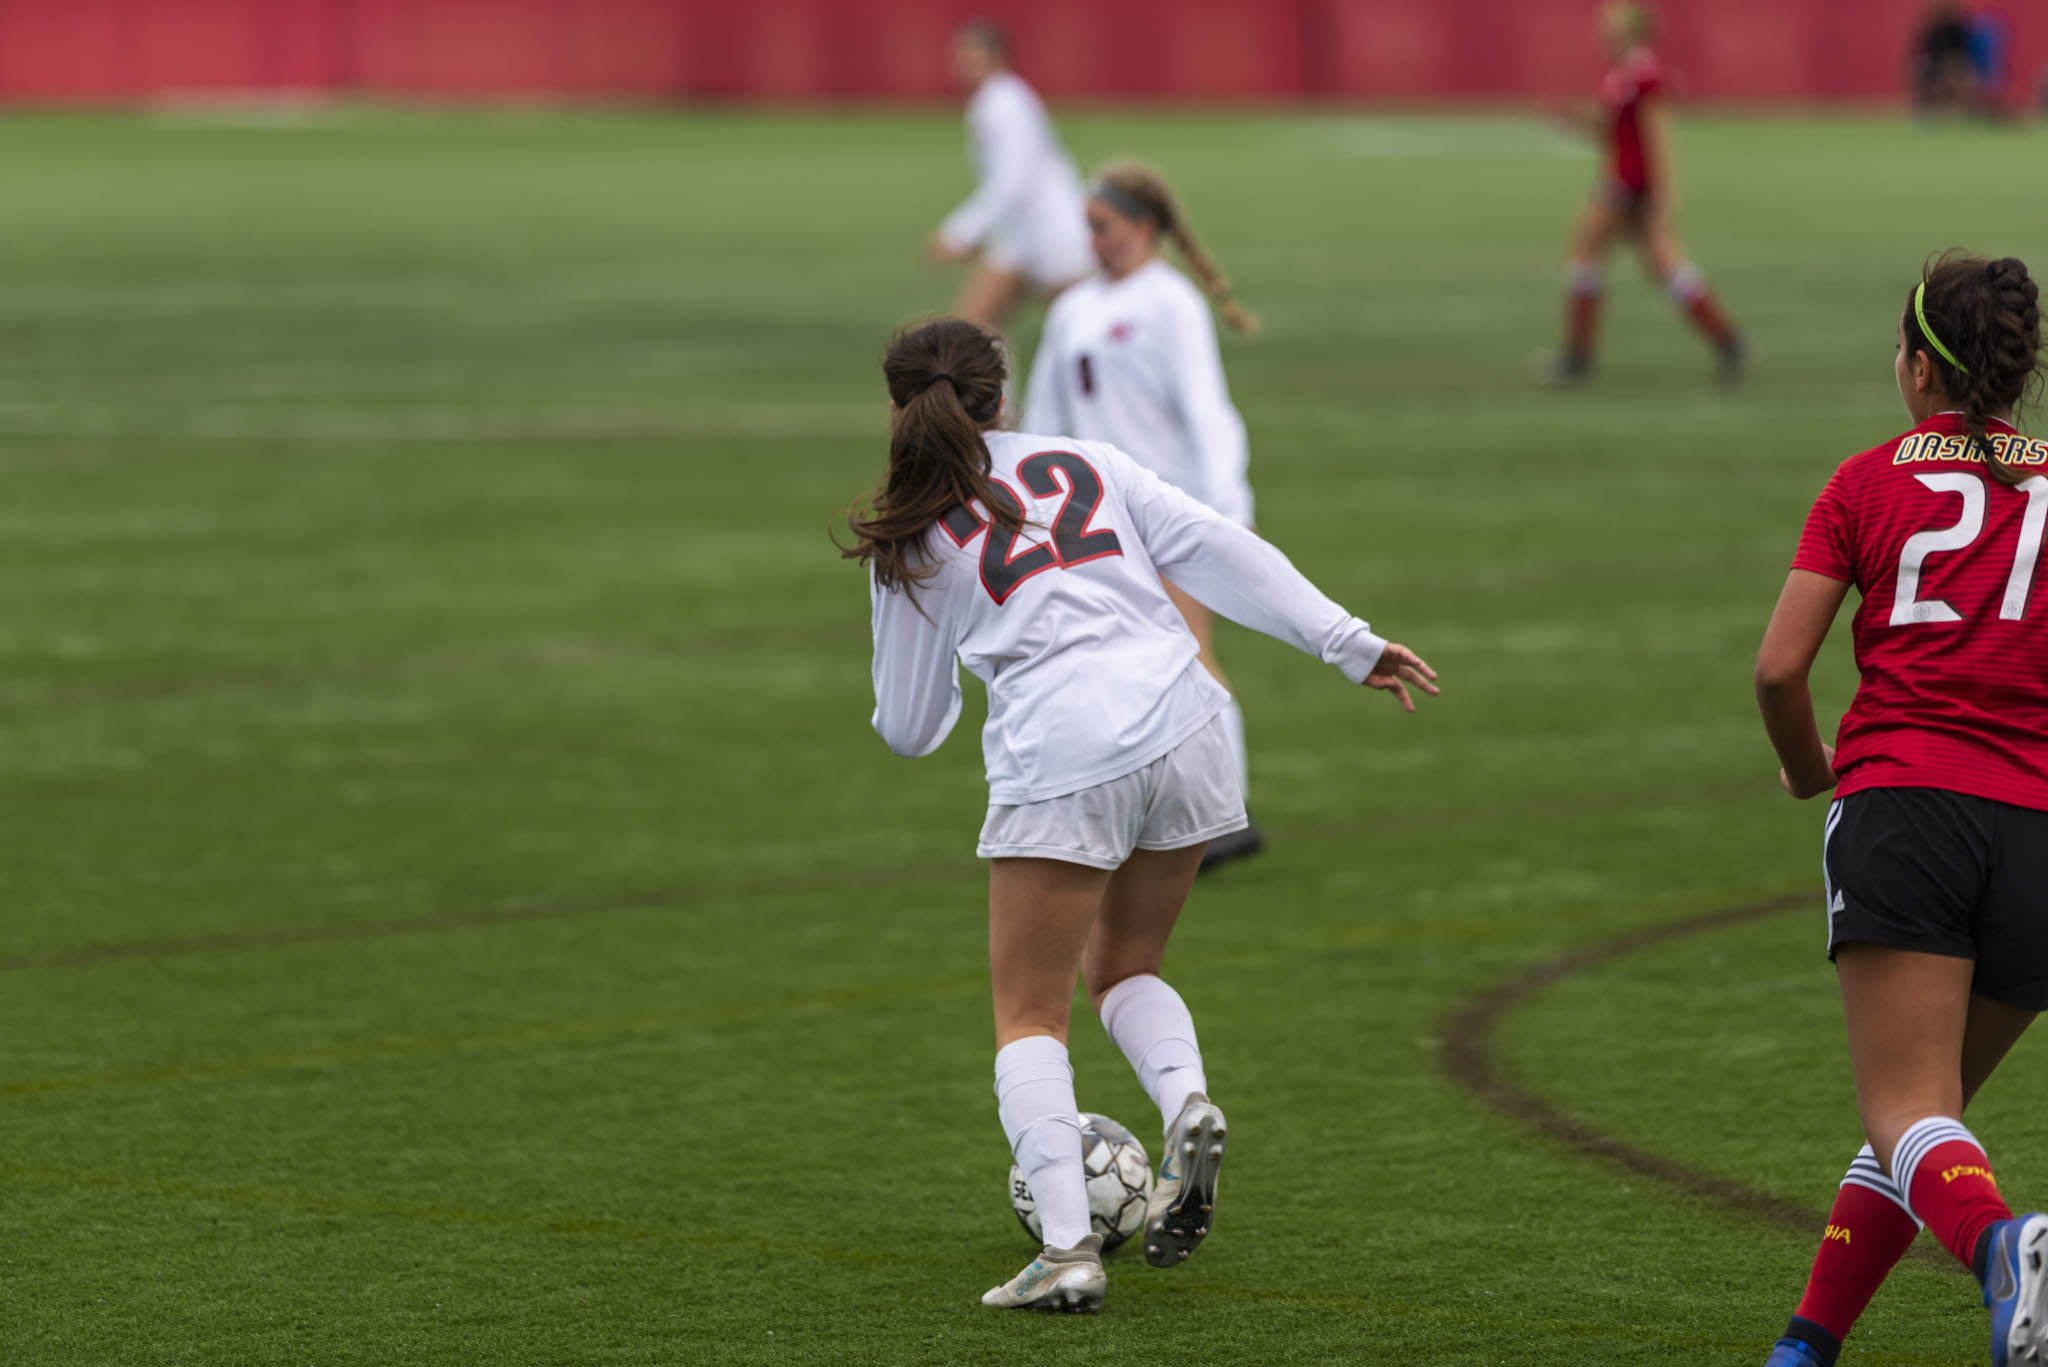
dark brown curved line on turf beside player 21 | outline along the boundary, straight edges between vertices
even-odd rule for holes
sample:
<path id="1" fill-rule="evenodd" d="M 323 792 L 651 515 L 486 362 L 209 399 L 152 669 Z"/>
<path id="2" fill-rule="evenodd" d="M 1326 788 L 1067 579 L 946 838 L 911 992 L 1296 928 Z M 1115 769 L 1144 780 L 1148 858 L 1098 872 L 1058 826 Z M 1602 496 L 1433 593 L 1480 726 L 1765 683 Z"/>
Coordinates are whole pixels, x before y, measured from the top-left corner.
<path id="1" fill-rule="evenodd" d="M 1663 1154 L 1640 1150 L 1624 1140 L 1593 1129 L 1585 1121 L 1567 1115 L 1526 1086 L 1511 1082 L 1501 1070 L 1499 1060 L 1493 1055 L 1493 1037 L 1507 1012 L 1540 996 L 1548 988 L 1554 988 L 1567 978 L 1583 974 L 1595 963 L 1620 959 L 1667 941 L 1749 924 L 1751 920 L 1763 920 L 1765 916 L 1778 916 L 1780 912 L 1812 908 L 1817 906 L 1819 896 L 1819 892 L 1790 892 L 1776 898 L 1763 898 L 1759 902 L 1745 902 L 1743 906 L 1731 906 L 1718 912 L 1688 916 L 1661 926 L 1645 926 L 1640 930 L 1628 930 L 1604 941 L 1593 941 L 1591 945 L 1581 945 L 1579 949 L 1524 969 L 1522 974 L 1516 974 L 1513 978 L 1507 978 L 1470 998 L 1444 1021 L 1440 1035 L 1444 1043 L 1438 1062 L 1452 1082 L 1524 1129 L 1534 1129 L 1565 1148 L 1589 1158 L 1599 1158 L 1602 1162 L 1612 1162 L 1620 1168 L 1636 1172 L 1638 1176 L 1663 1183 L 1665 1187 L 1675 1187 L 1686 1195 L 1702 1197 L 1714 1205 L 1753 1215 L 1782 1230 L 1812 1236 L 1827 1224 L 1825 1211 L 1815 1211 L 1757 1187 L 1749 1187 L 1726 1176 L 1714 1176 L 1712 1172 L 1700 1172 L 1665 1158 Z M 1927 1244 L 1915 1244 L 1913 1256 L 1923 1262 L 1939 1262 L 1960 1271 L 1960 1265 L 1954 1258 L 1937 1248 L 1929 1248 Z"/>

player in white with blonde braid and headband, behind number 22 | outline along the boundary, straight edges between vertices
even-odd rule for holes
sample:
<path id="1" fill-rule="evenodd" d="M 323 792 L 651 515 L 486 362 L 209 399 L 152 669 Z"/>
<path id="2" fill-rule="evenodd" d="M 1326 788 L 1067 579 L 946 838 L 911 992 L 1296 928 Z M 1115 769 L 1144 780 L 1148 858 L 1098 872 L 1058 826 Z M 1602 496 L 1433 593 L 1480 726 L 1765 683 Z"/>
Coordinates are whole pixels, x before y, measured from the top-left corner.
<path id="1" fill-rule="evenodd" d="M 1100 271 L 1053 301 L 1024 391 L 1024 426 L 1106 441 L 1167 484 L 1233 523 L 1251 527 L 1245 422 L 1223 379 L 1208 301 L 1159 254 L 1169 238 L 1237 332 L 1257 322 L 1188 230 L 1188 215 L 1159 172 L 1135 162 L 1106 166 L 1087 187 L 1087 230 Z M 1214 617 L 1171 580 L 1167 594 L 1202 648 L 1202 664 L 1225 689 Z M 1245 715 L 1223 711 L 1239 771 Z M 1253 855 L 1257 826 L 1210 842 L 1204 867 Z"/>

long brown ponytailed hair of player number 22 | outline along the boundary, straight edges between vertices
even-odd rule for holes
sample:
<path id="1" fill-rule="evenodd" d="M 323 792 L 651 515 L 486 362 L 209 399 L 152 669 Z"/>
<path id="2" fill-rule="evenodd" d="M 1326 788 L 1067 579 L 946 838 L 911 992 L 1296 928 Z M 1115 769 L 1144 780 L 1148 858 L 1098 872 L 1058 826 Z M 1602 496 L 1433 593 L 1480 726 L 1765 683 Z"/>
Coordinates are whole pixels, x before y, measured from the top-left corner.
<path id="1" fill-rule="evenodd" d="M 840 547 L 842 557 L 872 566 L 883 588 L 911 590 L 938 574 L 926 533 L 954 504 L 981 500 L 997 527 L 1022 531 L 1016 504 L 991 496 L 981 441 L 1001 412 L 1008 373 L 995 334 L 965 318 L 905 328 L 889 340 L 889 469 L 866 508 L 846 512 L 854 545 Z"/>

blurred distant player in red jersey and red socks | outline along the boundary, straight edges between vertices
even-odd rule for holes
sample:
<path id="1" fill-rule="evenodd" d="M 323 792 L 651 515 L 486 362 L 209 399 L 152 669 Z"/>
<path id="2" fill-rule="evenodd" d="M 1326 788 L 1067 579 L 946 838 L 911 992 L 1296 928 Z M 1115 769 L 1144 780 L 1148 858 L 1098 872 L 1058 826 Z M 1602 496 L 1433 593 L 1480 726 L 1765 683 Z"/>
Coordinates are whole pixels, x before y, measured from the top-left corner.
<path id="1" fill-rule="evenodd" d="M 1671 131 L 1663 70 L 1649 49 L 1651 31 L 1651 12 L 1640 4 L 1610 4 L 1599 12 L 1599 37 L 1612 66 L 1599 80 L 1599 102 L 1573 115 L 1573 123 L 1604 146 L 1606 164 L 1571 230 L 1565 344 L 1538 359 L 1540 383 L 1581 383 L 1593 371 L 1604 262 L 1618 240 L 1642 252 L 1642 264 L 1714 344 L 1720 377 L 1735 381 L 1743 373 L 1743 336 L 1720 312 L 1706 275 L 1686 258 L 1671 223 Z"/>

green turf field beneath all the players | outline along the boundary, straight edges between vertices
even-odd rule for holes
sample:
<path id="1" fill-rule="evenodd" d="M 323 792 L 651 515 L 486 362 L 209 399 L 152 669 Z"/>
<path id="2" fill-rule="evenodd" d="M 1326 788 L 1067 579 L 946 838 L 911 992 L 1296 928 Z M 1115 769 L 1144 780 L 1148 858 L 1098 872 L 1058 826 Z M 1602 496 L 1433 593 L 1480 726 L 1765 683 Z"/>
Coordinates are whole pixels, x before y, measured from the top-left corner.
<path id="1" fill-rule="evenodd" d="M 952 115 L 8 121 L 0 1361 L 1763 1359 L 1812 1234 L 1501 1119 L 1440 1029 L 1817 883 L 1755 639 L 1833 463 L 1905 426 L 1921 256 L 2048 258 L 2042 135 L 1683 123 L 1731 398 L 1630 262 L 1599 383 L 1524 383 L 1593 174 L 1532 123 L 1067 133 L 1159 160 L 1266 318 L 1225 342 L 1264 531 L 1444 674 L 1403 717 L 1223 641 L 1272 851 L 1169 959 L 1233 1127 L 1202 1256 L 1116 1256 L 1098 1320 L 975 1303 L 1028 1254 L 979 697 L 887 754 L 827 541 L 883 336 L 950 297 Z M 1501 1066 L 1825 1209 L 1821 937 L 1608 959 Z M 1155 1133 L 1087 1019 L 1075 1062 Z M 2023 1207 L 2044 1084 L 2021 1045 L 1972 1113 Z M 1843 1361 L 1980 1353 L 1974 1287 L 1909 1265 Z"/>

